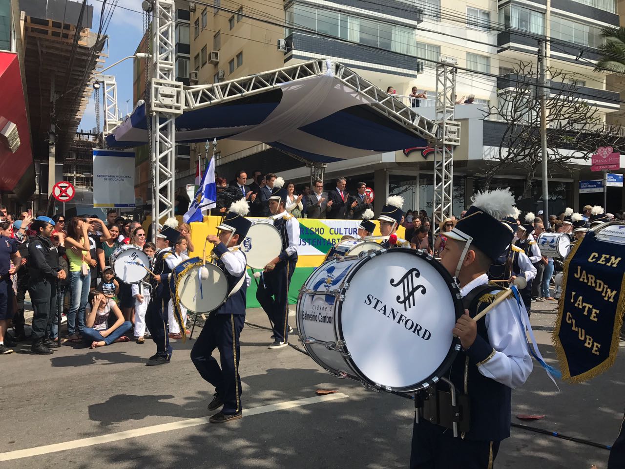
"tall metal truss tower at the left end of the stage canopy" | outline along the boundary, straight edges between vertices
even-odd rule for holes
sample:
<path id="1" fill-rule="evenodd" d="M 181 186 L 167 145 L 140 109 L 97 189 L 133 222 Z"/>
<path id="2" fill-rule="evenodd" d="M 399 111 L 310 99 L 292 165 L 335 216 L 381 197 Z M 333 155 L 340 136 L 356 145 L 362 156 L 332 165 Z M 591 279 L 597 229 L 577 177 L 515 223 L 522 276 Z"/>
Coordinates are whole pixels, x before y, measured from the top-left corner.
<path id="1" fill-rule="evenodd" d="M 183 113 L 183 83 L 175 81 L 174 0 L 152 4 L 152 64 L 149 83 L 152 233 L 161 218 L 174 216 L 176 116 Z"/>

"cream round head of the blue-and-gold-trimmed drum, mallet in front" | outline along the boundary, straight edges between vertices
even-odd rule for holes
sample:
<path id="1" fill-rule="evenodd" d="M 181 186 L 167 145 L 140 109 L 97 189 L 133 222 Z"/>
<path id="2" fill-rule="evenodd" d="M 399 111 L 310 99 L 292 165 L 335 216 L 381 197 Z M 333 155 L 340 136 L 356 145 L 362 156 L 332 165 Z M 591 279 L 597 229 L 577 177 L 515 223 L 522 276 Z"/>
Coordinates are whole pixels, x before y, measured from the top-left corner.
<path id="1" fill-rule="evenodd" d="M 194 313 L 210 313 L 226 301 L 228 282 L 226 275 L 214 264 L 206 264 L 207 280 L 201 280 L 199 272 L 202 266 L 195 266 L 187 271 L 178 283 L 180 303 Z"/>

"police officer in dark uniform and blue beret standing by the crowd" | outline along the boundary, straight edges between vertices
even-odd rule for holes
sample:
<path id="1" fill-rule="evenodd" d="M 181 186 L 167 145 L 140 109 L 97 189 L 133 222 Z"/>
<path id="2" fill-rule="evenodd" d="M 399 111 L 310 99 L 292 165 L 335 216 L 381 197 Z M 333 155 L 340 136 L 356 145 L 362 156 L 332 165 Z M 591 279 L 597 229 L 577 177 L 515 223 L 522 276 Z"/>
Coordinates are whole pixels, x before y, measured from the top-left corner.
<path id="1" fill-rule="evenodd" d="M 38 216 L 32 222 L 35 233 L 28 243 L 28 293 L 32 303 L 32 348 L 31 353 L 49 355 L 56 344 L 48 337 L 51 325 L 52 302 L 56 298 L 57 280 L 65 278 L 65 271 L 59 268 L 59 252 L 52 244 L 50 236 L 54 221 L 47 216 Z"/>

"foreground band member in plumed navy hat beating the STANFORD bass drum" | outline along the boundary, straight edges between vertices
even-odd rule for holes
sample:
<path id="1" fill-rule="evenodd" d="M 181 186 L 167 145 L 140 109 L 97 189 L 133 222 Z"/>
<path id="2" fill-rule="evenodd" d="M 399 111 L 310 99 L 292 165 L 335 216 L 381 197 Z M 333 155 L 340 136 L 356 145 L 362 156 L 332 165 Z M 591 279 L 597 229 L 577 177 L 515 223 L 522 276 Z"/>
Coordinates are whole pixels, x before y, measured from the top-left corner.
<path id="1" fill-rule="evenodd" d="M 478 194 L 466 215 L 446 233 L 441 264 L 456 276 L 467 308 L 452 331 L 462 350 L 447 378 L 456 393 L 468 396 L 469 431 L 454 438 L 449 429 L 422 416 L 425 407 L 417 408 L 412 469 L 492 467 L 499 444 L 510 435 L 512 388 L 521 386 L 532 370 L 525 338 L 527 316 L 512 298 L 483 320 L 472 318 L 502 294 L 501 287 L 488 284 L 486 271 L 511 244 L 514 233 L 499 220 L 512 212 L 512 203 L 508 190 Z"/>

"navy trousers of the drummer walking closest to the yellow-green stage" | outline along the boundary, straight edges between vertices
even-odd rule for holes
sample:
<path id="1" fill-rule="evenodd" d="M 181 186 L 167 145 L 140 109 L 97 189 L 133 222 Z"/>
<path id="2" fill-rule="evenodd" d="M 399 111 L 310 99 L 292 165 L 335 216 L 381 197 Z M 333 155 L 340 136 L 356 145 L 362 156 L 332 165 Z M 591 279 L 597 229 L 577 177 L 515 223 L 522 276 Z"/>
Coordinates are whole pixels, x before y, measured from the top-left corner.
<path id="1" fill-rule="evenodd" d="M 256 290 L 256 300 L 267 313 L 273 326 L 274 340 L 286 342 L 289 331 L 289 284 L 297 260 L 276 264 L 273 271 L 263 273 Z"/>

